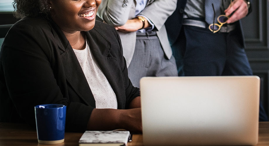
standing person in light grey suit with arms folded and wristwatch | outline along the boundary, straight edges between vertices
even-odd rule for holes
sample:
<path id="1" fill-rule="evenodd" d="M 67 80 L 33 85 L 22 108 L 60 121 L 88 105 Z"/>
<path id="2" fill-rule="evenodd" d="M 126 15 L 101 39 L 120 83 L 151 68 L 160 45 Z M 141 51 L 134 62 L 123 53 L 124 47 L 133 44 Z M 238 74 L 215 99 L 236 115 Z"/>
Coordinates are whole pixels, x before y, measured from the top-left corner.
<path id="1" fill-rule="evenodd" d="M 97 15 L 120 34 L 133 85 L 146 76 L 177 76 L 164 26 L 176 0 L 103 0 Z"/>

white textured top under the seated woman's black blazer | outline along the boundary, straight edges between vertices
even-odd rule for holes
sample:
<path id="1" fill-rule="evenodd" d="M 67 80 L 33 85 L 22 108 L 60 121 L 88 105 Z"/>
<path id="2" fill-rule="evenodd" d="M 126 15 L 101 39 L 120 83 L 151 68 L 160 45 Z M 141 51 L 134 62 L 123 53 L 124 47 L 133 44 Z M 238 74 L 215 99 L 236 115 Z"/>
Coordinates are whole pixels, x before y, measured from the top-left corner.
<path id="1" fill-rule="evenodd" d="M 73 49 L 78 62 L 85 74 L 88 84 L 92 90 L 95 99 L 96 108 L 112 108 L 117 109 L 118 103 L 116 95 L 111 88 L 104 73 L 101 71 L 96 60 L 93 58 L 90 48 L 86 40 L 86 48 L 83 50 Z"/>

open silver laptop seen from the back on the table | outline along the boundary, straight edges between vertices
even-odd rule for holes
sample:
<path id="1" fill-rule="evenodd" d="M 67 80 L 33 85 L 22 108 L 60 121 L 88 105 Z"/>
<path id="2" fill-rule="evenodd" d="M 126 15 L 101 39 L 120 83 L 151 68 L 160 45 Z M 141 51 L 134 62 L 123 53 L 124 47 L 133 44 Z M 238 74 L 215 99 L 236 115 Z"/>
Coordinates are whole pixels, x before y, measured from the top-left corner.
<path id="1" fill-rule="evenodd" d="M 260 78 L 143 77 L 143 144 L 256 145 Z"/>

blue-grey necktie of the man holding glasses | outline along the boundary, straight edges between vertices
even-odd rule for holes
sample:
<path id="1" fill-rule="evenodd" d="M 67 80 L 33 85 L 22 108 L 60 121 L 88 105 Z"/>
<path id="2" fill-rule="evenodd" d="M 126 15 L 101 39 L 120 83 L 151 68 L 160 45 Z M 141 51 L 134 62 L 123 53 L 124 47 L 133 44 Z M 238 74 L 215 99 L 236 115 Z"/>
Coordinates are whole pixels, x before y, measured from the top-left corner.
<path id="1" fill-rule="evenodd" d="M 214 20 L 214 10 L 212 7 L 214 5 L 215 9 L 215 23 L 218 23 L 218 16 L 221 14 L 220 5 L 222 4 L 222 0 L 205 0 L 205 20 L 208 25 L 213 23 Z"/>

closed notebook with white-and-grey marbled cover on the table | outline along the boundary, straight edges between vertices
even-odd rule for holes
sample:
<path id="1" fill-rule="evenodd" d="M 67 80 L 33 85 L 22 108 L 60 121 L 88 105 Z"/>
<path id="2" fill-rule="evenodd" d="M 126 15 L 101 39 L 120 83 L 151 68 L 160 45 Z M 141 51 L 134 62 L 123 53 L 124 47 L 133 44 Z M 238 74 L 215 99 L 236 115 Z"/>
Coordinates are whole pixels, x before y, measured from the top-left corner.
<path id="1" fill-rule="evenodd" d="M 123 146 L 127 145 L 129 131 L 85 131 L 79 140 L 80 146 Z"/>

